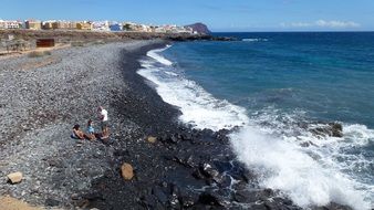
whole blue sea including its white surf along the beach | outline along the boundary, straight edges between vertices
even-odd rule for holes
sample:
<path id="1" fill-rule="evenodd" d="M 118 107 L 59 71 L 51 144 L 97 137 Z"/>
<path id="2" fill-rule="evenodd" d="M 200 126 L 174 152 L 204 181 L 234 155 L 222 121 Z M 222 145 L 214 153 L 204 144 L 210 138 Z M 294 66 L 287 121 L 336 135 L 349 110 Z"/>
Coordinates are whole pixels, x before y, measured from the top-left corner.
<path id="1" fill-rule="evenodd" d="M 374 33 L 216 33 L 149 51 L 141 75 L 180 123 L 230 135 L 238 159 L 303 208 L 374 208 Z M 343 137 L 315 135 L 328 123 Z M 307 146 L 305 146 L 307 145 Z"/>

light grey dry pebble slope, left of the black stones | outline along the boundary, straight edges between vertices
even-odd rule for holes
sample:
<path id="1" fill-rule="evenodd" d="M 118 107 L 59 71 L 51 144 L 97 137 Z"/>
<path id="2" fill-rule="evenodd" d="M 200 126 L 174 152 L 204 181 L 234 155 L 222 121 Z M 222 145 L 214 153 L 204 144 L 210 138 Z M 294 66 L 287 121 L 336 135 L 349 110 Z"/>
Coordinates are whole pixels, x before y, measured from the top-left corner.
<path id="1" fill-rule="evenodd" d="M 87 119 L 97 122 L 96 108 L 110 112 L 112 140 L 141 135 L 139 126 L 118 118 L 113 111 L 117 93 L 128 92 L 122 52 L 135 52 L 159 41 L 132 41 L 53 51 L 52 55 L 27 55 L 0 63 L 0 195 L 10 193 L 32 203 L 59 201 L 70 206 L 71 195 L 87 190 L 91 180 L 113 167 L 103 157 L 113 148 L 101 141 L 72 139 L 71 128 Z M 38 69 L 45 59 L 54 62 Z M 132 66 L 127 66 L 132 67 Z M 98 130 L 98 123 L 95 125 Z M 117 130 L 117 132 L 115 132 Z M 6 175 L 22 171 L 19 185 Z M 46 201 L 46 202 L 45 202 Z"/>

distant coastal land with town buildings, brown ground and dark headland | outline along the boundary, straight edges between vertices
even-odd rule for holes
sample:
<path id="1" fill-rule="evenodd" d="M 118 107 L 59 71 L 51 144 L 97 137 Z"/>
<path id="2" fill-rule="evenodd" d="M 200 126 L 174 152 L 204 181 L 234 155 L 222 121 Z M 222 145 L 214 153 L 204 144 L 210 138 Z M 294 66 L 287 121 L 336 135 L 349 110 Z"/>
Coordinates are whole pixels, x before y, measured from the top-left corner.
<path id="1" fill-rule="evenodd" d="M 202 30 L 201 30 L 202 29 Z M 40 48 L 81 46 L 118 40 L 210 39 L 202 23 L 190 25 L 141 24 L 129 21 L 1 20 L 0 59 L 4 55 L 33 53 Z M 52 48 L 52 49 L 51 49 Z"/>

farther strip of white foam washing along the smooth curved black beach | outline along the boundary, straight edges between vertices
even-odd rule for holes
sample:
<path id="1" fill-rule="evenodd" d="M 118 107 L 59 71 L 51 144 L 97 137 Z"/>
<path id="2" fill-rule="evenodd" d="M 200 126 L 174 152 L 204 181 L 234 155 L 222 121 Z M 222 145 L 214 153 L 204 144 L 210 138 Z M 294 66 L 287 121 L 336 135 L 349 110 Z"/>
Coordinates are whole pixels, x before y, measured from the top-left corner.
<path id="1" fill-rule="evenodd" d="M 180 108 L 181 122 L 196 128 L 214 130 L 242 126 L 243 122 L 248 122 L 245 108 L 217 99 L 194 81 L 170 72 L 167 66 L 173 63 L 157 54 L 163 50 L 165 49 L 149 51 L 147 55 L 166 66 L 149 67 L 149 61 L 143 61 L 144 69 L 139 70 L 138 74 L 156 84 L 157 93 L 166 103 Z"/>

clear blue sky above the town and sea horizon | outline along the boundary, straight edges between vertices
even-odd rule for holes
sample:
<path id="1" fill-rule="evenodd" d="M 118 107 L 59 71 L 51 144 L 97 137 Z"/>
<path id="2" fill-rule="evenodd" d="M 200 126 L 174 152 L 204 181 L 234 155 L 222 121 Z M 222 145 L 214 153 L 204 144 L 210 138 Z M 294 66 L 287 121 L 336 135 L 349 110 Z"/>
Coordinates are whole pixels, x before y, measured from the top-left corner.
<path id="1" fill-rule="evenodd" d="M 3 20 L 202 22 L 215 32 L 374 31 L 374 0 L 0 0 L 0 8 Z"/>

